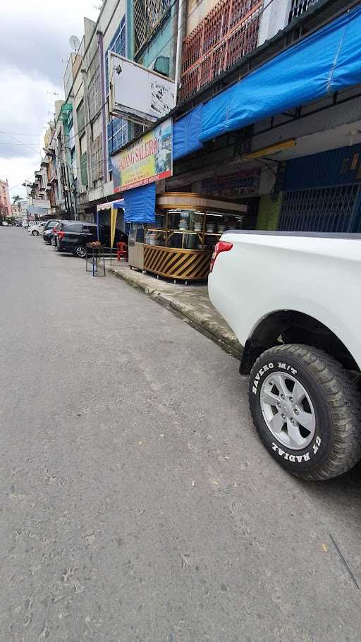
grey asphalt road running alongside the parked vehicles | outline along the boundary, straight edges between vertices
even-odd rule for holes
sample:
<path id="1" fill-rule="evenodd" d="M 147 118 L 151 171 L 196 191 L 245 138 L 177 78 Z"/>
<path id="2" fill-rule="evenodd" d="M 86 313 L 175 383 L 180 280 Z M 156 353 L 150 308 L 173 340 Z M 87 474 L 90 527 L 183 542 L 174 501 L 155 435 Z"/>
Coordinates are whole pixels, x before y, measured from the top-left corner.
<path id="1" fill-rule="evenodd" d="M 360 641 L 360 466 L 292 478 L 233 357 L 23 229 L 0 258 L 1 642 Z"/>

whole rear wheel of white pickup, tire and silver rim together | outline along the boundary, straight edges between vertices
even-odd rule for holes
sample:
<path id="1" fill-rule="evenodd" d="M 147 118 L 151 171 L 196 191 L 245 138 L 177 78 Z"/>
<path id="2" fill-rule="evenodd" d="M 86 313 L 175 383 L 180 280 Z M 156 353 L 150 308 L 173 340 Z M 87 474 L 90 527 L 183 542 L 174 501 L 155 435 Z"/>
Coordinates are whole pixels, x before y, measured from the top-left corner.
<path id="1" fill-rule="evenodd" d="M 361 458 L 361 396 L 322 350 L 276 346 L 250 375 L 250 411 L 269 453 L 305 480 L 345 473 Z"/>

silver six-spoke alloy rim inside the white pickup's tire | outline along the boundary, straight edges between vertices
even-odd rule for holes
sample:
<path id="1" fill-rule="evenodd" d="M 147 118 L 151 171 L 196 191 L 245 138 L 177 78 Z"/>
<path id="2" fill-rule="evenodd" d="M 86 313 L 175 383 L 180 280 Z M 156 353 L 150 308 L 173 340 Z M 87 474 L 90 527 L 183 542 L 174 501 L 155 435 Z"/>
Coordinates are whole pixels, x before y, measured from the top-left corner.
<path id="1" fill-rule="evenodd" d="M 316 430 L 316 416 L 310 396 L 293 375 L 268 375 L 259 401 L 267 428 L 276 440 L 293 450 L 307 448 Z"/>

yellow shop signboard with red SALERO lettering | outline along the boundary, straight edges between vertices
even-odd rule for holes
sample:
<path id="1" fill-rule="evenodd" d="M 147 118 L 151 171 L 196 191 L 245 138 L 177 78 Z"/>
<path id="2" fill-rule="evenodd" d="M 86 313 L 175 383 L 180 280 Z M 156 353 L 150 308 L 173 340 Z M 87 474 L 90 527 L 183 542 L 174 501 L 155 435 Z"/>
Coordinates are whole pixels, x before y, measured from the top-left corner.
<path id="1" fill-rule="evenodd" d="M 147 132 L 111 159 L 114 192 L 147 185 L 173 173 L 172 119 Z"/>

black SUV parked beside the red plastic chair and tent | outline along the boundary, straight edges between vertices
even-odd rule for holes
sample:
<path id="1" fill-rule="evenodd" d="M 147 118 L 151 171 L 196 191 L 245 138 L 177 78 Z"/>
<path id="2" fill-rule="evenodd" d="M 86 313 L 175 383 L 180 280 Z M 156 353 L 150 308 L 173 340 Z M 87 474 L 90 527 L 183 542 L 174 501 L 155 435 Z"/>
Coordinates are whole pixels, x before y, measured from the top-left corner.
<path id="1" fill-rule="evenodd" d="M 56 230 L 56 246 L 61 252 L 72 252 L 74 256 L 85 257 L 87 243 L 97 241 L 97 226 L 82 221 L 62 221 Z M 110 248 L 110 227 L 99 226 L 99 241 Z M 114 247 L 119 241 L 128 243 L 128 236 L 116 229 Z"/>

